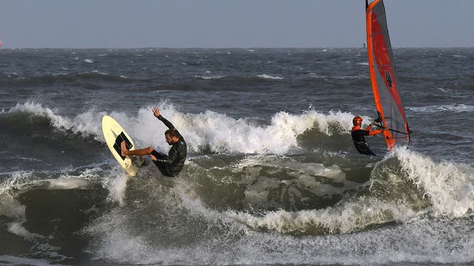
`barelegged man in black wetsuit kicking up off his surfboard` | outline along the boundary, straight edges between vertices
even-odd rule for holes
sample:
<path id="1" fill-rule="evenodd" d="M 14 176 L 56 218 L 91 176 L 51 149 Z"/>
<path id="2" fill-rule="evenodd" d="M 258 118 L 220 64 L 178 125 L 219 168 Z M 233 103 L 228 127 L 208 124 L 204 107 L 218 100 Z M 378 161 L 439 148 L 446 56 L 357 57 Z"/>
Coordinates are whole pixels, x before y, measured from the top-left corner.
<path id="1" fill-rule="evenodd" d="M 184 161 L 186 160 L 187 146 L 184 138 L 180 132 L 175 129 L 175 126 L 170 121 L 162 117 L 158 108 L 153 108 L 153 115 L 158 120 L 161 120 L 168 129 L 165 131 L 165 139 L 167 144 L 170 144 L 171 149 L 168 155 L 155 151 L 152 147 L 145 149 L 136 149 L 129 151 L 126 147 L 125 141 L 121 142 L 122 156 L 144 156 L 150 155 L 153 163 L 158 167 L 160 172 L 168 177 L 174 177 L 181 172 Z"/>

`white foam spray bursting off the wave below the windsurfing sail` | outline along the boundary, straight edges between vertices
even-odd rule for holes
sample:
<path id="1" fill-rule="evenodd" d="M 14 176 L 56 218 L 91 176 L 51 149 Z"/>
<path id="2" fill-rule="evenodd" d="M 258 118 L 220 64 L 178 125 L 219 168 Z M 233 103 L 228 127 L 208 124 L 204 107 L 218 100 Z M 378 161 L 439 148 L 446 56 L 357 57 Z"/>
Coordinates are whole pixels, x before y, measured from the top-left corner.
<path id="1" fill-rule="evenodd" d="M 408 178 L 429 196 L 435 214 L 461 217 L 474 211 L 474 166 L 435 161 L 416 151 L 394 152 Z"/>

